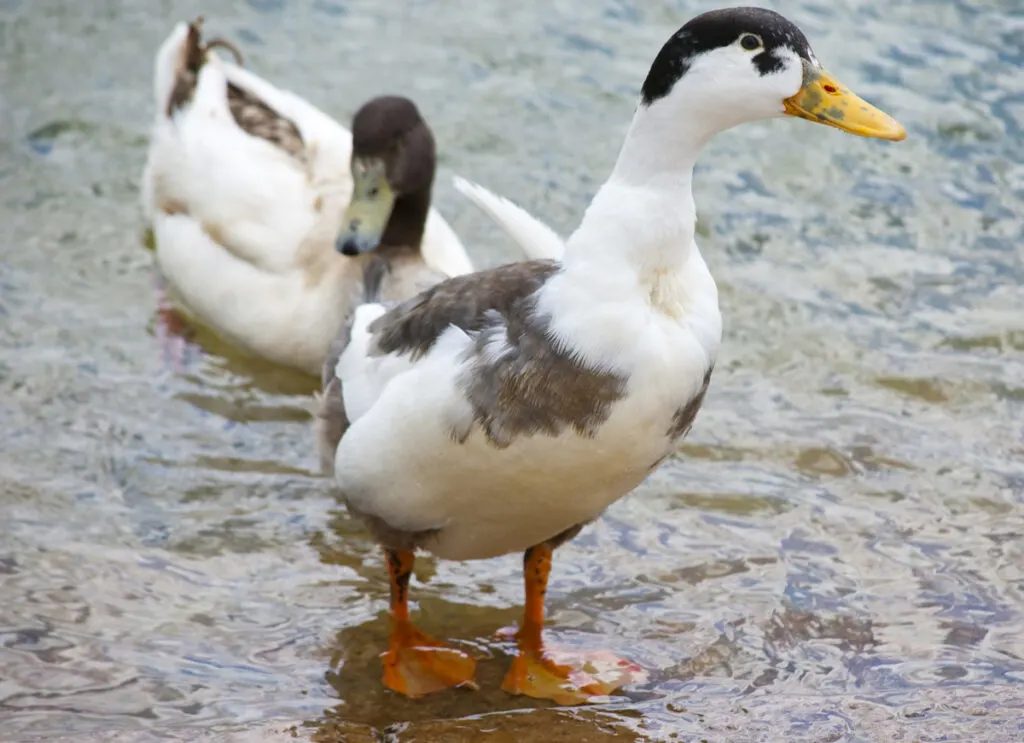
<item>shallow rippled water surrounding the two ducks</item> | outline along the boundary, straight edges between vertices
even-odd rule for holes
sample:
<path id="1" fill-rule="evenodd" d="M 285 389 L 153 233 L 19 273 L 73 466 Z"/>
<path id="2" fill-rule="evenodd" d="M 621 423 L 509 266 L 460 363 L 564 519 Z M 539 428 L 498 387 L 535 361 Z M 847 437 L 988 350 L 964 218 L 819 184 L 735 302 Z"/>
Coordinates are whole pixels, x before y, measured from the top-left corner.
<path id="1" fill-rule="evenodd" d="M 653 54 L 713 4 L 0 0 L 0 737 L 1024 738 L 1018 0 L 774 4 L 909 137 L 772 122 L 701 161 L 705 409 L 549 599 L 558 642 L 650 670 L 613 704 L 497 690 L 515 556 L 415 585 L 426 628 L 490 658 L 483 690 L 385 694 L 385 571 L 314 474 L 307 384 L 202 338 L 165 369 L 137 182 L 176 20 L 343 121 L 412 95 L 485 265 L 516 253 L 449 176 L 567 232 Z"/>

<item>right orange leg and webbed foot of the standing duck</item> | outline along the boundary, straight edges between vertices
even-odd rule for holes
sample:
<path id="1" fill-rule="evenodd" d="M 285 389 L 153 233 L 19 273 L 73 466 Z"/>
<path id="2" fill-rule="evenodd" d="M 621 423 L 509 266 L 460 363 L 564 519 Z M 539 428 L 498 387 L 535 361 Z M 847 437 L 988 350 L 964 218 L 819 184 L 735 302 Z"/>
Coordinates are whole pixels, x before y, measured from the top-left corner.
<path id="1" fill-rule="evenodd" d="M 555 661 L 554 653 L 545 648 L 542 637 L 544 626 L 544 596 L 548 589 L 551 556 L 554 549 L 549 543 L 531 547 L 523 556 L 523 576 L 526 583 L 526 606 L 522 626 L 516 632 L 518 654 L 505 676 L 502 689 L 510 694 L 525 694 L 538 699 L 551 699 L 559 704 L 580 704 L 595 696 L 606 696 L 623 684 L 629 683 L 640 669 L 609 654 L 610 675 L 597 673 L 586 658 L 566 658 L 569 664 Z M 559 656 L 565 655 L 562 653 Z M 571 661 L 575 662 L 571 662 Z"/>

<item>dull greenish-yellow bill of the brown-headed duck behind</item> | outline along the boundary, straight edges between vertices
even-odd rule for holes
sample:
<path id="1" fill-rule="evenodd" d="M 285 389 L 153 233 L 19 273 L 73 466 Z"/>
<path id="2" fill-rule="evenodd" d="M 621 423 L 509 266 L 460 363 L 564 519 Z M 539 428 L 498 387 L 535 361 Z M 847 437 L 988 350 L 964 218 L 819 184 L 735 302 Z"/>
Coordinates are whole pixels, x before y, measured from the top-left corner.
<path id="1" fill-rule="evenodd" d="M 352 200 L 335 242 L 338 252 L 357 256 L 377 248 L 391 218 L 394 199 L 383 160 L 353 160 Z"/>

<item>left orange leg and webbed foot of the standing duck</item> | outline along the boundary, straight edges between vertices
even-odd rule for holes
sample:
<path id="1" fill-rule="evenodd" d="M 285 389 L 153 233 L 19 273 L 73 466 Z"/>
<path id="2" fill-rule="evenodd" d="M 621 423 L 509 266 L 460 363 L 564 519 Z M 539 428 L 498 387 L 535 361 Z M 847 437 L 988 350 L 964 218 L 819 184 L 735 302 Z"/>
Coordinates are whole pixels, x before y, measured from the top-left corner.
<path id="1" fill-rule="evenodd" d="M 384 660 L 384 686 L 408 697 L 451 687 L 476 689 L 476 661 L 416 628 L 409 619 L 409 579 L 416 556 L 387 551 L 391 577 L 391 639 Z"/>

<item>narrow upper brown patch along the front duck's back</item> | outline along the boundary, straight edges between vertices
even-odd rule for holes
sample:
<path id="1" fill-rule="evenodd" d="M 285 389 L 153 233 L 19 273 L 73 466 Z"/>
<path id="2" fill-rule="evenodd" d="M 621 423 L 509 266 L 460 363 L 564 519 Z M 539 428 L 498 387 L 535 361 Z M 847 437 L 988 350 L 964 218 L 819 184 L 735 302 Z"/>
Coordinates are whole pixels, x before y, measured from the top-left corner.
<path id="1" fill-rule="evenodd" d="M 453 276 L 391 308 L 370 324 L 377 353 L 419 358 L 433 348 L 449 325 L 481 331 L 493 315 L 508 316 L 555 274 L 558 264 L 538 260 Z"/>

